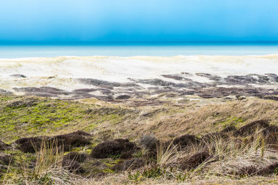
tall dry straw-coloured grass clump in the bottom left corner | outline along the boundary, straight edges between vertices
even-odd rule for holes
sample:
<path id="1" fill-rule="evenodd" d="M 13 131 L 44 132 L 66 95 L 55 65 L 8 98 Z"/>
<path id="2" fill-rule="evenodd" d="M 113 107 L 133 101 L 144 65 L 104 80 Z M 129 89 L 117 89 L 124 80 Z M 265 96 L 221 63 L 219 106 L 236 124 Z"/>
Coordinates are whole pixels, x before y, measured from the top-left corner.
<path id="1" fill-rule="evenodd" d="M 57 142 L 42 140 L 40 148 L 35 148 L 35 164 L 29 168 L 28 161 L 17 161 L 18 171 L 6 172 L 2 184 L 75 184 L 82 177 L 70 173 L 62 166 L 64 153 Z M 14 173 L 11 177 L 9 173 Z"/>

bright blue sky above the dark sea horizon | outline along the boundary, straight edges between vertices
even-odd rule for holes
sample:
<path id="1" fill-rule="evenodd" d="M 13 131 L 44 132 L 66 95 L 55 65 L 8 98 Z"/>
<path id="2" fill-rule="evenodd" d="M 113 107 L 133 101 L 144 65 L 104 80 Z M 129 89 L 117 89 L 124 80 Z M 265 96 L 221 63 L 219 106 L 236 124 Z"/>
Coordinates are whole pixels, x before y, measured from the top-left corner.
<path id="1" fill-rule="evenodd" d="M 278 1 L 1 0 L 3 42 L 278 42 Z"/>

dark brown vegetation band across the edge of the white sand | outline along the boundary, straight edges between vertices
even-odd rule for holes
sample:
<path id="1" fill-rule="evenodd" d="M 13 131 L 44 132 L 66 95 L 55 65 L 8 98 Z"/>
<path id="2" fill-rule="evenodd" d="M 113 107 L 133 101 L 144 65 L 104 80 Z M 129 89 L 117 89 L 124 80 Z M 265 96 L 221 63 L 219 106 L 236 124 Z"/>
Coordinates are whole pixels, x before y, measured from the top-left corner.
<path id="1" fill-rule="evenodd" d="M 65 91 L 54 87 L 21 87 L 13 88 L 17 92 L 24 92 L 28 96 L 43 97 L 61 97 L 67 96 L 66 99 L 75 100 L 81 98 L 97 98 L 105 101 L 119 100 L 126 101 L 129 98 L 144 98 L 150 94 L 174 94 L 173 97 L 182 97 L 184 95 L 196 95 L 202 98 L 224 98 L 227 96 L 236 96 L 238 100 L 243 100 L 243 96 L 256 96 L 265 100 L 278 100 L 277 88 L 266 89 L 255 87 L 254 85 L 277 85 L 278 76 L 276 74 L 247 74 L 245 76 L 227 76 L 222 78 L 209 73 L 195 73 L 197 76 L 208 78 L 211 82 L 197 82 L 190 79 L 192 74 L 163 74 L 161 78 L 153 79 L 133 79 L 128 78 L 130 82 L 109 82 L 93 78 L 78 78 L 76 82 L 92 85 L 96 88 L 75 89 L 74 91 Z M 17 75 L 20 76 L 20 75 Z M 164 80 L 166 79 L 166 80 Z M 171 79 L 172 81 L 167 81 Z M 151 85 L 145 88 L 142 84 Z M 221 87 L 227 85 L 227 87 Z M 236 87 L 240 85 L 240 87 Z M 115 88 L 116 87 L 116 88 Z M 277 87 L 277 86 L 274 86 Z M 156 89 L 156 90 L 154 90 Z M 0 89 L 3 94 L 11 92 Z M 121 95 L 119 95 L 121 94 Z M 146 99 L 145 99 L 146 100 Z"/>

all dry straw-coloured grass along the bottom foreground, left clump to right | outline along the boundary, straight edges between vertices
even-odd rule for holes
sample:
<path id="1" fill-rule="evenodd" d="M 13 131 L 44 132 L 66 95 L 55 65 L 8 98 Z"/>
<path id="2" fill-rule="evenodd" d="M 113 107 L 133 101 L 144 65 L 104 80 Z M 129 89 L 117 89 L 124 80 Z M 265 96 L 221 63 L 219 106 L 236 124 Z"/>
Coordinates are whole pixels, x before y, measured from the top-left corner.
<path id="1" fill-rule="evenodd" d="M 211 157 L 198 164 L 191 170 L 181 170 L 179 160 L 186 159 L 197 152 L 207 150 Z M 195 183 L 247 183 L 247 182 L 275 182 L 276 177 L 258 177 L 245 175 L 238 178 L 234 175 L 240 169 L 248 166 L 263 168 L 278 160 L 277 151 L 272 150 L 263 143 L 263 138 L 258 136 L 254 141 L 238 146 L 231 136 L 228 139 L 211 137 L 210 141 L 199 145 L 190 145 L 185 150 L 172 143 L 165 146 L 158 145 L 156 168 L 163 169 L 163 174 L 158 177 L 147 178 L 140 175 L 138 180 L 130 179 L 130 174 L 146 170 L 144 168 L 120 174 L 108 174 L 101 178 L 85 179 L 74 175 L 62 168 L 63 152 L 58 152 L 55 143 L 44 143 L 36 152 L 34 169 L 22 166 L 24 173 L 13 181 L 6 179 L 5 184 L 12 184 L 21 179 L 25 184 L 168 184 L 178 182 Z M 146 166 L 147 169 L 153 168 Z M 255 180 L 256 179 L 256 180 Z"/>

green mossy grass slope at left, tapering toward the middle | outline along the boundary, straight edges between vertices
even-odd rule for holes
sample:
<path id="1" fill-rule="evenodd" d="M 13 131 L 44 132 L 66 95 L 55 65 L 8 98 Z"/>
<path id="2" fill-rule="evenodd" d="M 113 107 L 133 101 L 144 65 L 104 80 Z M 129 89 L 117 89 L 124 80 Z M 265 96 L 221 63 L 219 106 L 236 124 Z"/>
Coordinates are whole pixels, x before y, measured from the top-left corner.
<path id="1" fill-rule="evenodd" d="M 13 102 L 19 102 L 18 106 Z M 27 103 L 26 103 L 27 102 Z M 13 105 L 13 106 L 11 106 Z M 120 123 L 129 109 L 105 108 L 50 98 L 0 96 L 0 138 L 12 142 L 24 136 L 58 134 L 85 130 L 91 132 L 104 122 Z"/>

